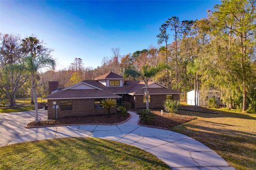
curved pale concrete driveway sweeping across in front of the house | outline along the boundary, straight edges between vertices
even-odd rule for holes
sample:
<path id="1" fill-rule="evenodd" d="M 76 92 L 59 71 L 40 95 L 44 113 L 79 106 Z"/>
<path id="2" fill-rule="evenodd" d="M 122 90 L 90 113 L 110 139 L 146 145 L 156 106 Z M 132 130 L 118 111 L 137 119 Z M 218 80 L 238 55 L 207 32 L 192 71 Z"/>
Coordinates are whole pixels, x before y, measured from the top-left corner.
<path id="1" fill-rule="evenodd" d="M 0 114 L 0 146 L 25 141 L 66 137 L 94 137 L 139 147 L 163 160 L 172 169 L 234 169 L 216 152 L 186 135 L 138 125 L 138 115 L 129 112 L 129 121 L 120 125 L 74 125 L 26 129 L 34 111 Z M 39 111 L 41 120 L 46 111 Z"/>

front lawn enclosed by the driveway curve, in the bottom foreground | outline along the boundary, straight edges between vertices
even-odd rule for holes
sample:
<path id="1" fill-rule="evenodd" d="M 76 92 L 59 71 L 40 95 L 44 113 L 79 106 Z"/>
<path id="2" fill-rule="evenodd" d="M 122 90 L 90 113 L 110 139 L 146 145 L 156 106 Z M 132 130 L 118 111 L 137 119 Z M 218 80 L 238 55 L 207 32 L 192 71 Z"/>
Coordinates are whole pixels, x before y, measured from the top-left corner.
<path id="1" fill-rule="evenodd" d="M 0 148 L 0 169 L 170 169 L 156 156 L 95 138 L 24 142 Z"/>

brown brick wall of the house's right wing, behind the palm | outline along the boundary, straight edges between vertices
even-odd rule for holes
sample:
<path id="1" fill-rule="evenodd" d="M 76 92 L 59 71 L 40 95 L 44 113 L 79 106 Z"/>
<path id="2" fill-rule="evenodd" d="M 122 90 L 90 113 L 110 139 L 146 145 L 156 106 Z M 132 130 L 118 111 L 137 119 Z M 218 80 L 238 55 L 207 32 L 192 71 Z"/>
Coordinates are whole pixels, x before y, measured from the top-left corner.
<path id="1" fill-rule="evenodd" d="M 166 95 L 150 95 L 149 108 L 163 108 Z M 180 95 L 173 95 L 173 99 L 180 101 Z M 138 95 L 135 97 L 135 108 L 146 108 L 146 103 L 143 103 L 143 96 Z"/>

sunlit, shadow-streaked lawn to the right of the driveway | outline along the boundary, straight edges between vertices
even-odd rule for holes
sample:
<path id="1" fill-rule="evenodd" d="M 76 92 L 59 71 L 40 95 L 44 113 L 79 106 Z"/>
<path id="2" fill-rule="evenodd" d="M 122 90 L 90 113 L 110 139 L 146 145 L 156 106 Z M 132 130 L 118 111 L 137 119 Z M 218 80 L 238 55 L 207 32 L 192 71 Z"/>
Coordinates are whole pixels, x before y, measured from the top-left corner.
<path id="1" fill-rule="evenodd" d="M 214 111 L 218 114 L 179 111 L 197 119 L 170 130 L 201 141 L 236 169 L 256 169 L 256 114 Z"/>

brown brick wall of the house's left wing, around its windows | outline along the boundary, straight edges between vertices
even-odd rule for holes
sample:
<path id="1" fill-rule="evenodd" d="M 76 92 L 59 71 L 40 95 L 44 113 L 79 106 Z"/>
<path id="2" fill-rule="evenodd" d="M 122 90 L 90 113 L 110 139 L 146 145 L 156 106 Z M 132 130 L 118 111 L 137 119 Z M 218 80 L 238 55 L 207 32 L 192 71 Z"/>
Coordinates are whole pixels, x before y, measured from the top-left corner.
<path id="1" fill-rule="evenodd" d="M 73 111 L 61 111 L 60 100 L 48 100 L 48 119 L 54 119 L 54 109 L 52 108 L 53 101 L 57 102 L 59 109 L 57 109 L 58 117 L 69 116 L 86 116 L 86 115 L 100 115 L 108 114 L 106 108 L 94 109 L 94 99 L 73 99 Z M 110 113 L 116 113 L 116 107 L 110 108 Z"/>

